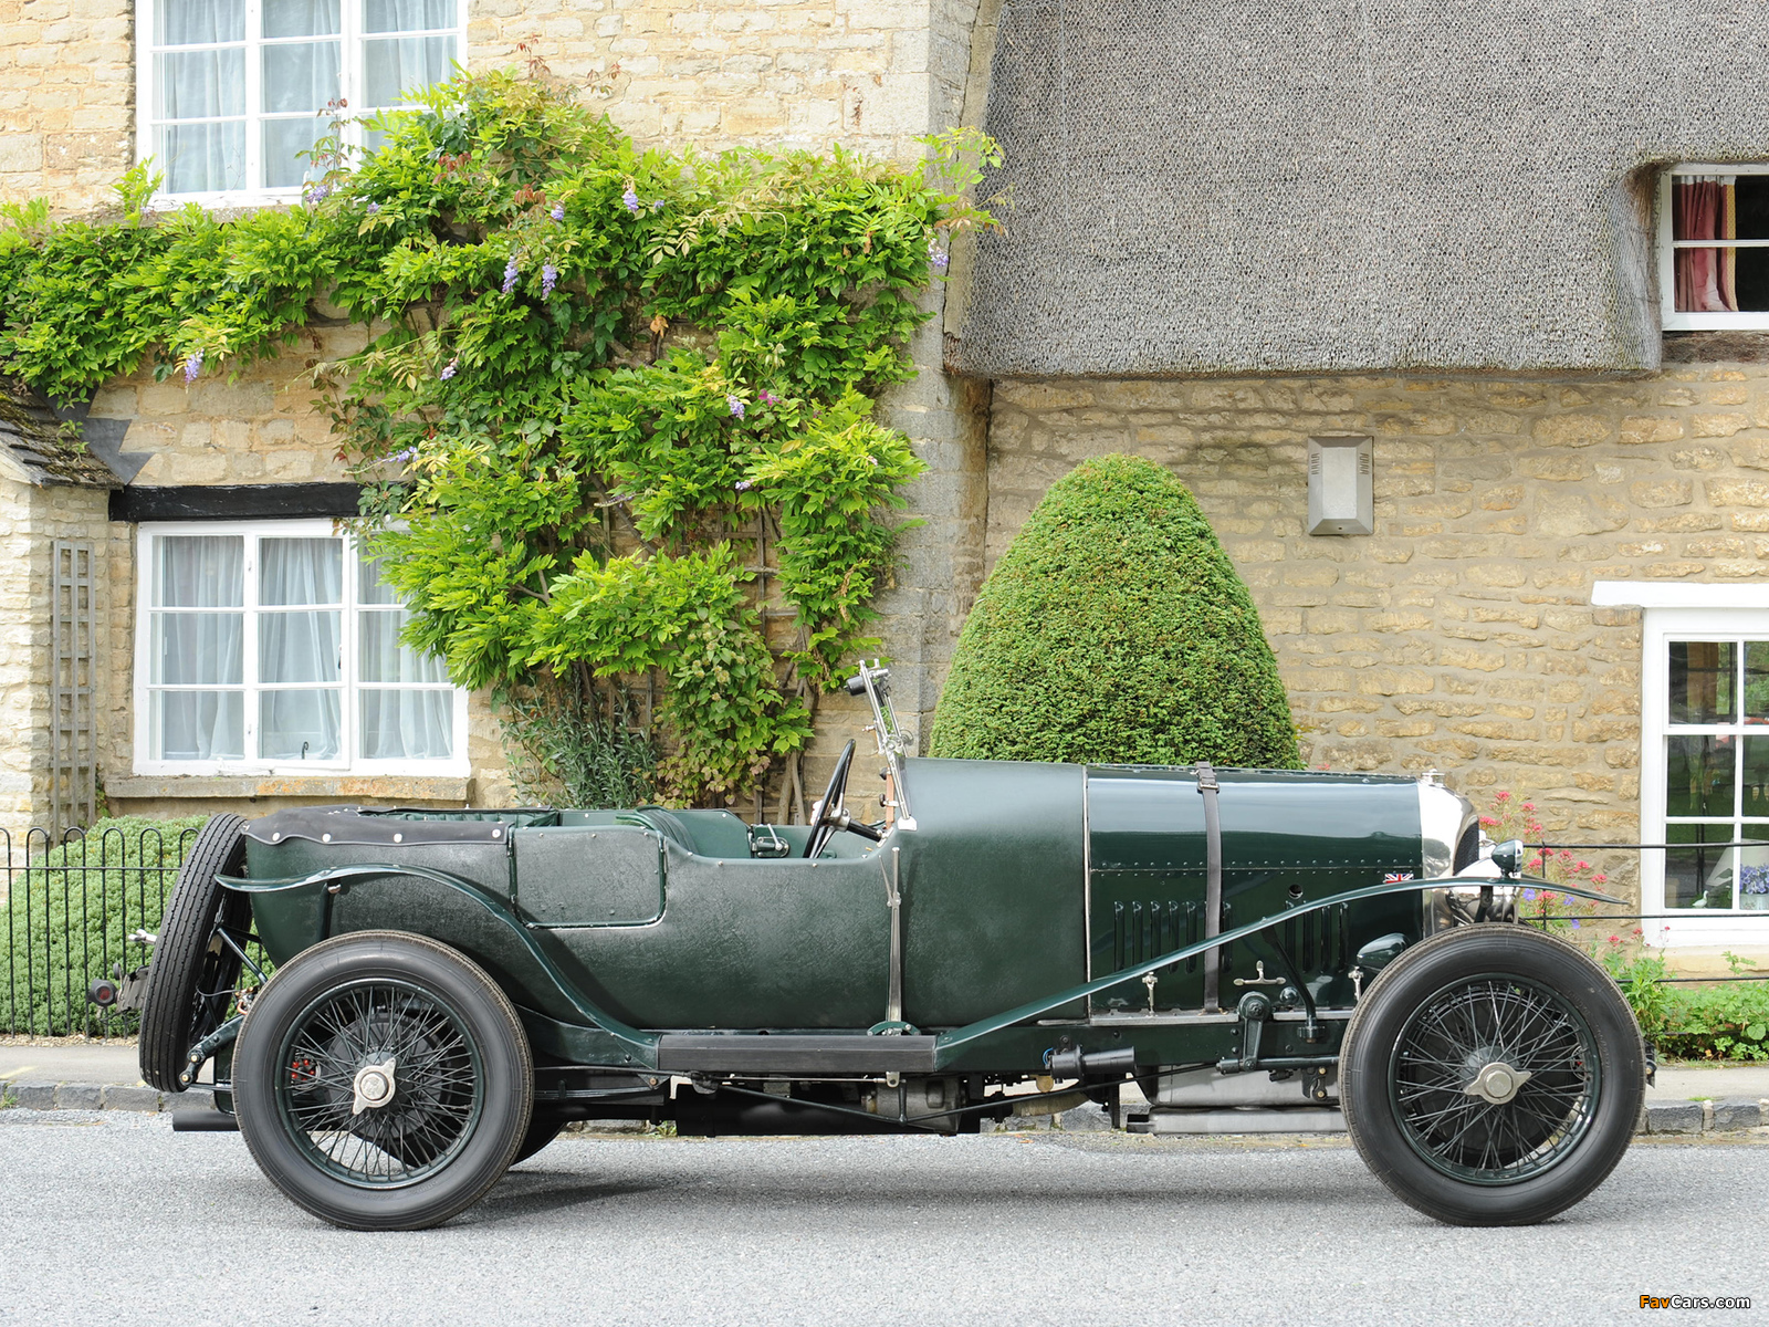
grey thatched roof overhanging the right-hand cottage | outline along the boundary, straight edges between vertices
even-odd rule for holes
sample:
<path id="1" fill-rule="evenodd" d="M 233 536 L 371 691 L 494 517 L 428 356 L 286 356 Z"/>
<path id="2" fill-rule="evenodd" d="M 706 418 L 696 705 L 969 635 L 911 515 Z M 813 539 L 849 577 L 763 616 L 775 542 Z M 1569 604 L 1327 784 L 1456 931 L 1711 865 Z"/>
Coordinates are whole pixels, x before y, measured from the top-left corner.
<path id="1" fill-rule="evenodd" d="M 1005 0 L 948 359 L 1654 368 L 1652 182 L 1769 157 L 1765 57 L 1762 0 Z"/>

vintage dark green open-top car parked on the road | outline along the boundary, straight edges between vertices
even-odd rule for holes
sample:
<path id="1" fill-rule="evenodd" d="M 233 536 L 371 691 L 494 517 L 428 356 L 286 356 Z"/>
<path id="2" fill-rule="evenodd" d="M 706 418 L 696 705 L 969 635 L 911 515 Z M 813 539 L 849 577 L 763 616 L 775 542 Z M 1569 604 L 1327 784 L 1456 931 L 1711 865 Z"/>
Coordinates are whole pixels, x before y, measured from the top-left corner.
<path id="1" fill-rule="evenodd" d="M 1118 1124 L 1127 1085 L 1219 1129 L 1337 1106 L 1383 1184 L 1459 1224 L 1543 1221 L 1627 1148 L 1647 1072 L 1627 1003 L 1516 922 L 1521 846 L 1482 856 L 1461 796 L 906 759 L 886 676 L 849 683 L 874 708 L 876 825 L 847 809 L 854 743 L 812 826 L 211 819 L 149 971 L 143 1078 L 179 1092 L 214 1058 L 265 1175 L 361 1230 L 448 1221 L 586 1118 L 962 1134 L 1086 1102 Z"/>

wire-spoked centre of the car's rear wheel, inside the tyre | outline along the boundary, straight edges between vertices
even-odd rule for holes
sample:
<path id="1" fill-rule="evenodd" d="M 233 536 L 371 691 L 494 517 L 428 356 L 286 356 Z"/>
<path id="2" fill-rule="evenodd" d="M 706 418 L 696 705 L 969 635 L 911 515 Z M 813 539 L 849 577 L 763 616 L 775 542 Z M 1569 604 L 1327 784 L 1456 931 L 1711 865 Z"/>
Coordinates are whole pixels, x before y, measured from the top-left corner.
<path id="1" fill-rule="evenodd" d="M 446 1166 L 483 1108 L 479 1047 L 432 991 L 356 982 L 313 1001 L 290 1028 L 276 1108 L 313 1164 L 345 1184 L 414 1184 Z M 364 1072 L 391 1070 L 368 1104 Z"/>

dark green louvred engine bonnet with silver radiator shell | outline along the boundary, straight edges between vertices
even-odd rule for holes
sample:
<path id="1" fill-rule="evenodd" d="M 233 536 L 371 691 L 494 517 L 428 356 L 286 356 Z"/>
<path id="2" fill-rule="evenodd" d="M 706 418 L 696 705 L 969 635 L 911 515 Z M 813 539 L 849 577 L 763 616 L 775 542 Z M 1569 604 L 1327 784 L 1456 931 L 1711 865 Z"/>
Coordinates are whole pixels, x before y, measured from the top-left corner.
<path id="1" fill-rule="evenodd" d="M 1222 931 L 1385 879 L 1429 879 L 1472 860 L 1479 821 L 1428 780 L 1302 770 L 1217 770 L 1222 826 Z M 1090 975 L 1157 957 L 1205 936 L 1205 796 L 1192 770 L 1090 766 L 1086 771 Z M 1222 950 L 1222 1003 L 1274 996 L 1298 975 L 1325 1005 L 1352 1003 L 1357 955 L 1376 940 L 1424 934 L 1421 895 L 1304 913 Z M 1261 966 L 1263 964 L 1263 966 Z M 1373 977 L 1375 973 L 1364 973 Z M 1240 986 L 1237 986 L 1240 982 Z M 1095 1012 L 1196 1009 L 1192 959 L 1107 991 Z"/>

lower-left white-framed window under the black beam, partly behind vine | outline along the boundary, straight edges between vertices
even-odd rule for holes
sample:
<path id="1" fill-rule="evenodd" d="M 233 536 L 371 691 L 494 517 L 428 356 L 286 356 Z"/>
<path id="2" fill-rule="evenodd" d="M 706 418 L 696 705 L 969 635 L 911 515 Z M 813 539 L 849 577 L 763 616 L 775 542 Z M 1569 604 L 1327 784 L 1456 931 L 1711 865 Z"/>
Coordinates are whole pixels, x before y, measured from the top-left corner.
<path id="1" fill-rule="evenodd" d="M 467 773 L 467 694 L 331 520 L 138 540 L 136 773 Z"/>

